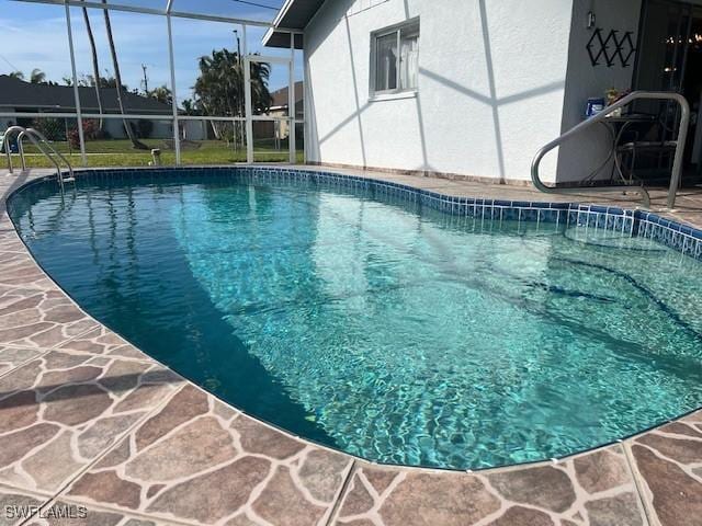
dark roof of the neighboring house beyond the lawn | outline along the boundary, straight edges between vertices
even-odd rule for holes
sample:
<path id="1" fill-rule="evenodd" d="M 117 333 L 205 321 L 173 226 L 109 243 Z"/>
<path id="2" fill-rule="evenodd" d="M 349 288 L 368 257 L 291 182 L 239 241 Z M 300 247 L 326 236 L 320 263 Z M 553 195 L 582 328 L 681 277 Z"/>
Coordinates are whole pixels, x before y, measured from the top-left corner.
<path id="1" fill-rule="evenodd" d="M 98 113 L 95 89 L 79 87 L 78 92 L 81 110 L 86 113 Z M 120 113 L 116 90 L 114 88 L 101 88 L 100 93 L 103 112 Z M 156 99 L 125 92 L 122 93 L 122 100 L 124 108 L 128 113 L 172 114 L 170 104 L 163 104 Z M 0 107 L 73 112 L 76 110 L 76 99 L 73 88 L 70 85 L 33 84 L 7 75 L 0 75 Z"/>

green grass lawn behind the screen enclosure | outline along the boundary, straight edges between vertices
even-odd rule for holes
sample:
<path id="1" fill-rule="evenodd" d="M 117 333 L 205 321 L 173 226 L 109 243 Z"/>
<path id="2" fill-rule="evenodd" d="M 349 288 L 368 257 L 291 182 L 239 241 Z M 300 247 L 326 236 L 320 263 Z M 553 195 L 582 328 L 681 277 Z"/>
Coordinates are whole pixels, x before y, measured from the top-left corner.
<path id="1" fill-rule="evenodd" d="M 146 167 L 151 161 L 150 148 L 161 150 L 161 163 L 176 164 L 176 152 L 169 149 L 162 139 L 143 139 L 141 142 L 149 150 L 136 150 L 126 139 L 91 140 L 86 141 L 86 153 L 89 167 Z M 199 148 L 185 146 L 181 149 L 182 164 L 229 164 L 233 162 L 246 162 L 246 150 L 235 150 L 234 146 L 222 140 L 197 141 Z M 69 148 L 68 142 L 53 142 L 57 151 L 64 153 L 70 163 L 78 168 L 82 165 L 80 151 Z M 38 153 L 32 145 L 25 145 L 26 162 L 30 168 L 50 168 L 48 159 Z M 281 141 L 281 149 L 273 148 L 272 140 L 254 141 L 253 159 L 257 162 L 287 162 L 287 141 Z M 19 156 L 13 156 L 15 167 L 20 165 Z M 297 162 L 304 162 L 303 151 L 297 151 Z"/>

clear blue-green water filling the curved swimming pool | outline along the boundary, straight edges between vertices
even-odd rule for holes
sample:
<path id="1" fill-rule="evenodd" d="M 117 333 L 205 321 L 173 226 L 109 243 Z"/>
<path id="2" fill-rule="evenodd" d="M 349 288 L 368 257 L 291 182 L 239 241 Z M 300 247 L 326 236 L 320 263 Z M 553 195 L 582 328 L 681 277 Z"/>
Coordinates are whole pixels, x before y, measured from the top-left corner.
<path id="1" fill-rule="evenodd" d="M 372 460 L 539 460 L 702 405 L 702 268 L 650 241 L 215 175 L 44 183 L 11 213 L 103 323 Z"/>

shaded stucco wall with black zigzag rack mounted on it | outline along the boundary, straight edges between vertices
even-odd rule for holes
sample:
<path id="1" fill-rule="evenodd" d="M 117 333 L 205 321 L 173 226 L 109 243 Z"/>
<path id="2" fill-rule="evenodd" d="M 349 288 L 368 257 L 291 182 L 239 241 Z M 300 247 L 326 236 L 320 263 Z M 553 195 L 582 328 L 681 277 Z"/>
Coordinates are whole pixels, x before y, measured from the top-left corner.
<path id="1" fill-rule="evenodd" d="M 626 31 L 633 32 L 633 42 L 636 45 L 641 8 L 642 0 L 575 0 L 563 106 L 563 132 L 582 122 L 589 98 L 603 98 L 610 88 L 631 89 L 635 71 L 636 57 L 632 58 L 629 67 L 622 67 L 619 60 L 612 67 L 605 64 L 592 66 L 587 44 L 595 30 L 587 27 L 587 13 L 592 11 L 596 14 L 596 26 L 601 27 L 605 35 L 611 30 L 618 30 L 620 36 Z M 574 137 L 561 147 L 558 182 L 581 181 L 602 164 L 611 148 L 611 135 L 601 125 Z M 611 163 L 604 167 L 598 179 L 608 179 L 610 175 Z"/>

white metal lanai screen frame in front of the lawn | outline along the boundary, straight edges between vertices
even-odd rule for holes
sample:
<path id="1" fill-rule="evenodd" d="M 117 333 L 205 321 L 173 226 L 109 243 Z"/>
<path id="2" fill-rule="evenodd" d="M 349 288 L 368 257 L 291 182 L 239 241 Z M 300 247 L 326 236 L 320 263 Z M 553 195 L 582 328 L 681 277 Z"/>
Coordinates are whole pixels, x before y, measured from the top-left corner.
<path id="1" fill-rule="evenodd" d="M 231 122 L 231 123 L 245 123 L 246 129 L 246 146 L 247 146 L 247 163 L 253 163 L 253 121 L 269 121 L 269 122 L 280 122 L 287 121 L 288 122 L 288 151 L 290 151 L 290 163 L 294 164 L 296 162 L 296 140 L 295 140 L 295 125 L 302 124 L 304 126 L 304 118 L 296 118 L 295 111 L 295 79 L 294 79 L 294 70 L 295 70 L 295 35 L 303 34 L 299 30 L 287 30 L 275 27 L 272 22 L 267 21 L 258 21 L 258 20 L 249 20 L 249 19 L 237 19 L 233 16 L 218 16 L 212 14 L 204 13 L 194 13 L 194 12 L 184 12 L 184 11 L 174 11 L 173 0 L 167 0 L 165 9 L 154 9 L 154 8 L 143 8 L 138 5 L 124 5 L 120 3 L 102 3 L 93 0 L 13 0 L 16 2 L 24 3 L 44 3 L 47 5 L 64 5 L 66 9 L 66 36 L 68 38 L 68 49 L 70 55 L 70 67 L 71 67 L 71 77 L 73 83 L 73 98 L 76 101 L 76 111 L 75 112 L 63 112 L 63 113 L 21 113 L 21 112 L 1 112 L 0 117 L 12 117 L 12 118 L 23 118 L 23 117 L 33 117 L 33 118 L 46 118 L 46 117 L 58 117 L 58 118 L 75 118 L 78 124 L 78 137 L 80 141 L 80 158 L 83 167 L 88 165 L 88 155 L 86 153 L 86 139 L 83 137 L 83 118 L 86 119 L 107 119 L 107 118 L 117 118 L 117 119 L 150 119 L 150 121 L 163 121 L 170 122 L 173 127 L 173 150 L 176 152 L 176 165 L 181 165 L 181 145 L 180 145 L 180 127 L 179 123 L 181 121 L 223 121 L 223 122 Z M 166 0 L 165 0 L 166 1 Z M 76 53 L 73 48 L 73 32 L 71 27 L 70 20 L 70 8 L 88 8 L 88 9 L 99 9 L 99 10 L 107 10 L 107 11 L 122 11 L 122 12 L 131 12 L 131 13 L 140 13 L 140 14 L 150 14 L 150 15 L 160 15 L 166 19 L 167 33 L 168 33 L 168 60 L 170 68 L 170 85 L 169 89 L 172 93 L 172 107 L 173 114 L 169 118 L 167 116 L 155 116 L 155 115 L 143 115 L 135 113 L 82 113 L 80 106 L 80 94 L 78 91 L 78 73 L 76 68 Z M 200 21 L 210 21 L 210 22 L 219 22 L 219 23 L 228 23 L 238 25 L 242 31 L 242 43 L 241 43 L 241 55 L 244 58 L 244 75 L 245 75 L 245 116 L 226 116 L 226 115 L 213 115 L 213 116 L 202 116 L 202 115 L 179 115 L 178 114 L 178 96 L 177 96 L 177 79 L 176 79 L 176 64 L 173 56 L 173 31 L 172 31 L 172 19 L 190 19 L 190 20 L 200 20 Z M 256 26 L 256 27 L 275 27 L 276 32 L 280 33 L 288 33 L 290 34 L 290 76 L 288 76 L 288 85 L 287 85 L 287 116 L 282 117 L 272 117 L 267 115 L 253 115 L 252 114 L 252 101 L 251 101 L 251 92 L 248 89 L 250 87 L 250 62 L 251 60 L 256 61 L 270 61 L 270 62 L 280 62 L 281 57 L 273 56 L 264 56 L 264 55 L 249 55 L 248 53 L 248 44 L 247 44 L 247 26 Z M 304 80 L 303 80 L 304 82 Z M 305 147 L 305 161 L 307 159 L 306 156 L 307 148 Z"/>

